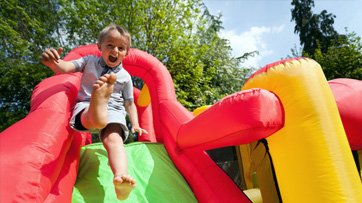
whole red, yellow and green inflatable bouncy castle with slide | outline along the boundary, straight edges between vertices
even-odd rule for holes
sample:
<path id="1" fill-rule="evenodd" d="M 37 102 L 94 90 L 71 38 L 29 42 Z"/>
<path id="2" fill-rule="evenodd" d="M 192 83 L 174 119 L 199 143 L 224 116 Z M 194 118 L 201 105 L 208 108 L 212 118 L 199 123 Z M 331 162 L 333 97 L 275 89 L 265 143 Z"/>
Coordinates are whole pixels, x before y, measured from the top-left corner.
<path id="1" fill-rule="evenodd" d="M 96 45 L 64 60 L 90 54 L 100 56 Z M 156 58 L 131 49 L 122 63 L 145 83 L 134 94 L 140 125 L 150 132 L 126 145 L 137 187 L 125 202 L 250 202 L 205 150 L 260 140 L 282 201 L 362 202 L 351 153 L 362 148 L 361 81 L 328 83 L 313 60 L 284 60 L 194 115 Z M 28 116 L 0 134 L 0 202 L 117 202 L 105 149 L 68 125 L 79 81 L 79 73 L 43 80 Z"/>

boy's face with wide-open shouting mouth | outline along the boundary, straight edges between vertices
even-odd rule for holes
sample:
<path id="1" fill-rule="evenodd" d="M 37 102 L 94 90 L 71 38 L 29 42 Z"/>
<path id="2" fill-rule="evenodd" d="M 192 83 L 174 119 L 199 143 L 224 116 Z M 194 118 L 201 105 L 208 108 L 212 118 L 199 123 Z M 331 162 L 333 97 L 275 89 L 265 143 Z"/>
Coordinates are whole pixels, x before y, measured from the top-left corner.
<path id="1" fill-rule="evenodd" d="M 98 48 L 102 52 L 102 58 L 107 66 L 114 68 L 118 66 L 127 55 L 128 41 L 117 30 L 111 30 L 104 38 Z"/>

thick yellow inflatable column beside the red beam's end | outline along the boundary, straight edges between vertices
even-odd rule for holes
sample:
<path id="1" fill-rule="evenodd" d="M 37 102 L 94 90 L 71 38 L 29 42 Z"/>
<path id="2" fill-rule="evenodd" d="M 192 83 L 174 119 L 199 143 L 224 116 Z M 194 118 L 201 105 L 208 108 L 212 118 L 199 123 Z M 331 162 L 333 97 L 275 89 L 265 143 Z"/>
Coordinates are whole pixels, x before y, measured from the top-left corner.
<path id="1" fill-rule="evenodd" d="M 285 126 L 267 138 L 283 202 L 362 202 L 362 185 L 337 105 L 318 63 L 271 64 L 243 90 L 263 88 L 283 104 Z"/>

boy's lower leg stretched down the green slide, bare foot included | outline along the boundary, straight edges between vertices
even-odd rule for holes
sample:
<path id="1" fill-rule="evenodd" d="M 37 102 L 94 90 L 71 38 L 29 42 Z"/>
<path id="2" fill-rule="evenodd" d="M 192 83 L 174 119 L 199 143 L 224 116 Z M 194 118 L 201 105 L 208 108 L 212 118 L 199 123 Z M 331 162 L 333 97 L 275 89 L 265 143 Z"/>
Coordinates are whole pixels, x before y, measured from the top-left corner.
<path id="1" fill-rule="evenodd" d="M 108 153 L 108 161 L 114 174 L 114 186 L 117 198 L 127 199 L 136 186 L 136 181 L 128 175 L 127 155 L 123 139 L 119 132 L 123 132 L 119 124 L 109 124 L 102 130 L 102 142 Z"/>

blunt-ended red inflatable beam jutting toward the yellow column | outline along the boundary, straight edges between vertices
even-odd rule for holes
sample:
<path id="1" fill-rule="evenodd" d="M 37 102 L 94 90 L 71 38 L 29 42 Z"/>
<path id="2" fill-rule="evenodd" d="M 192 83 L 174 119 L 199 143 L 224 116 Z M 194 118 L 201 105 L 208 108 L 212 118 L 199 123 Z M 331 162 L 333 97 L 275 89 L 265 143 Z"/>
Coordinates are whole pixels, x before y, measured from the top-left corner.
<path id="1" fill-rule="evenodd" d="M 269 91 L 251 89 L 225 97 L 182 125 L 177 143 L 203 149 L 247 144 L 271 135 L 283 123 L 279 99 Z"/>

